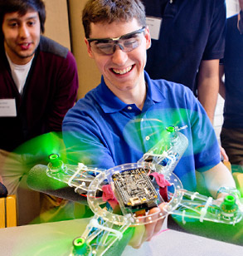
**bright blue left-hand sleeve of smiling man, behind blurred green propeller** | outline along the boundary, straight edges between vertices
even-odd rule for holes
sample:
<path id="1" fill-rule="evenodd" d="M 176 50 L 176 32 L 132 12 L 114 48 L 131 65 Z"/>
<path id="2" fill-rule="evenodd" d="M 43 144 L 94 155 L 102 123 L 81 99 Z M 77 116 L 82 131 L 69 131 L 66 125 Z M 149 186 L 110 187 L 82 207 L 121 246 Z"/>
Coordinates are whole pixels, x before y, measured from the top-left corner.
<path id="1" fill-rule="evenodd" d="M 97 124 L 87 112 L 80 111 L 80 107 L 68 112 L 63 121 L 62 135 L 70 164 L 83 163 L 100 169 L 114 167 L 112 153 L 101 134 L 100 126 L 102 124 Z"/>

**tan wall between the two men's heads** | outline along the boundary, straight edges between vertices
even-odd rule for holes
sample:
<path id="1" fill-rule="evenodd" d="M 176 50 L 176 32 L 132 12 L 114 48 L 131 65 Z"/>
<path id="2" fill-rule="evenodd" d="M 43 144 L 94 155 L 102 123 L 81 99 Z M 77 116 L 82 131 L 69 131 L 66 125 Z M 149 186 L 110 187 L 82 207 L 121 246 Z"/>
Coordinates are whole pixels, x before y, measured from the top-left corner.
<path id="1" fill-rule="evenodd" d="M 78 99 L 100 83 L 100 72 L 88 56 L 85 46 L 81 13 L 86 2 L 87 0 L 45 1 L 46 37 L 51 37 L 68 47 L 75 56 L 80 81 Z"/>

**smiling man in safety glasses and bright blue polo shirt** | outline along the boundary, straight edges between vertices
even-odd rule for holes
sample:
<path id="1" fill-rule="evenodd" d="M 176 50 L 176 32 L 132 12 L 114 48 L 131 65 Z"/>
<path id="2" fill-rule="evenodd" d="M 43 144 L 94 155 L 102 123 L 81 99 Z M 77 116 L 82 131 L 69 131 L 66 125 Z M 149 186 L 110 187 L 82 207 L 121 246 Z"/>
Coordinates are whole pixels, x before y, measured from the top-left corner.
<path id="1" fill-rule="evenodd" d="M 155 144 L 155 136 L 159 137 L 164 127 L 187 126 L 181 131 L 189 145 L 174 170 L 184 187 L 196 190 L 197 170 L 214 198 L 221 197 L 217 193 L 221 187 L 234 188 L 230 171 L 221 163 L 211 122 L 192 91 L 170 81 L 151 80 L 144 71 L 151 37 L 143 3 L 89 0 L 82 21 L 88 54 L 102 77 L 100 85 L 64 118 L 62 131 L 69 159 L 104 169 L 135 163 Z M 161 221 L 146 225 L 132 245 L 139 247 L 161 226 Z"/>

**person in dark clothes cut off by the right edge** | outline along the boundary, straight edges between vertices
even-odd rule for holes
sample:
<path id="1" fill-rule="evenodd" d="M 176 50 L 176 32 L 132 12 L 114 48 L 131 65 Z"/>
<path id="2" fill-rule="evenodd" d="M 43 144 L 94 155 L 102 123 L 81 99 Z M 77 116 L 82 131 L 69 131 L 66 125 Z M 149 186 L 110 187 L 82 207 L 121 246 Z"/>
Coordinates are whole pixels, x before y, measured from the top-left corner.
<path id="1" fill-rule="evenodd" d="M 243 0 L 241 12 L 227 19 L 226 50 L 220 65 L 220 93 L 225 99 L 221 145 L 232 170 L 243 168 Z M 223 78 L 225 75 L 225 78 Z"/>

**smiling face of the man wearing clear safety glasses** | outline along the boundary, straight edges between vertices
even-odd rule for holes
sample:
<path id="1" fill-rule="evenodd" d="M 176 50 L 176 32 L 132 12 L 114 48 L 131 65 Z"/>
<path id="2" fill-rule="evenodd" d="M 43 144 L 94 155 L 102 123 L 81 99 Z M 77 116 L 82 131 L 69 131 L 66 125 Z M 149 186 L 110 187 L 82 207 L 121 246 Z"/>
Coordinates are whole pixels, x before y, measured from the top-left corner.
<path id="1" fill-rule="evenodd" d="M 142 28 L 136 19 L 131 22 L 91 23 L 90 38 L 117 38 Z M 104 81 L 115 95 L 133 91 L 137 86 L 144 86 L 143 68 L 146 64 L 146 50 L 150 47 L 148 29 L 139 33 L 139 47 L 131 52 L 123 52 L 119 46 L 111 55 L 100 54 L 92 44 L 85 40 L 91 58 L 95 59 Z M 94 42 L 95 43 L 95 42 Z M 138 87 L 137 87 L 138 88 Z M 123 92 L 122 92 L 123 91 Z"/>

